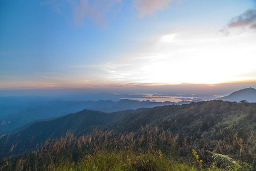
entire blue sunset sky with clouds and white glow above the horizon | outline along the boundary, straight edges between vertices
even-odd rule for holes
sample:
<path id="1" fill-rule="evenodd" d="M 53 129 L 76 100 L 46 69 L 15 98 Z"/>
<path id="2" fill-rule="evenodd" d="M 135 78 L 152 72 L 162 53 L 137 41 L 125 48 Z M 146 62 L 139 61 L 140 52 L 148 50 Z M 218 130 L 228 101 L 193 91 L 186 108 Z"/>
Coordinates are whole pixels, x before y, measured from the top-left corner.
<path id="1" fill-rule="evenodd" d="M 256 88 L 255 47 L 255 0 L 0 1 L 0 91 Z"/>

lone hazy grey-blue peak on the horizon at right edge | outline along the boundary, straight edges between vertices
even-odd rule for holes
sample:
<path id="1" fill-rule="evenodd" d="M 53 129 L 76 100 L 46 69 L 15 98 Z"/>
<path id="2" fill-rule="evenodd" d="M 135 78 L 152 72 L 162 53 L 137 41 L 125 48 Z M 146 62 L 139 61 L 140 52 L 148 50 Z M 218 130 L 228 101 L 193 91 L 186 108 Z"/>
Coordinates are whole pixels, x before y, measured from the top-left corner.
<path id="1" fill-rule="evenodd" d="M 235 91 L 228 96 L 221 97 L 221 100 L 227 101 L 241 101 L 246 100 L 250 103 L 256 102 L 256 89 L 254 88 L 245 88 L 239 91 Z"/>

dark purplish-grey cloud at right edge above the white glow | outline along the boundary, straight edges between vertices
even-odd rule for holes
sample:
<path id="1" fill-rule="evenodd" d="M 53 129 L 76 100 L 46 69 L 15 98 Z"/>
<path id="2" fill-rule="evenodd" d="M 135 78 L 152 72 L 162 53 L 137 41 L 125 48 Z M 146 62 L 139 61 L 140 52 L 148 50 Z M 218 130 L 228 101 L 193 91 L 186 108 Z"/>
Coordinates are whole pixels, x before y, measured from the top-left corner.
<path id="1" fill-rule="evenodd" d="M 245 11 L 245 13 L 231 19 L 227 24 L 229 28 L 250 28 L 256 29 L 256 10 L 250 9 Z"/>

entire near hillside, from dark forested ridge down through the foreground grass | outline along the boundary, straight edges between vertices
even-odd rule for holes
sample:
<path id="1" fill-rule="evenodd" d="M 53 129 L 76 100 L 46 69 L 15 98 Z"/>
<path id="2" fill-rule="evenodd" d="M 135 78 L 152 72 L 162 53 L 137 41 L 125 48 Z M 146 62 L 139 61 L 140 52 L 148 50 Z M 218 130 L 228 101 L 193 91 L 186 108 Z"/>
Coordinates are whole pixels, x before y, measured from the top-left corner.
<path id="1" fill-rule="evenodd" d="M 35 167 L 39 156 L 50 155 L 55 159 L 40 165 L 57 170 L 168 170 L 171 165 L 176 167 L 171 170 L 254 170 L 255 128 L 256 103 L 245 101 L 201 101 L 115 113 L 84 110 L 30 125 L 10 135 L 7 143 L 7 136 L 2 137 L 1 146 L 19 142 L 14 149 L 5 146 L 12 154 L 21 145 L 30 150 L 51 136 L 32 153 L 5 158 L 2 165 L 11 162 L 12 168 L 20 161 Z M 68 130 L 74 135 L 61 138 Z M 25 160 L 28 157 L 31 161 Z"/>

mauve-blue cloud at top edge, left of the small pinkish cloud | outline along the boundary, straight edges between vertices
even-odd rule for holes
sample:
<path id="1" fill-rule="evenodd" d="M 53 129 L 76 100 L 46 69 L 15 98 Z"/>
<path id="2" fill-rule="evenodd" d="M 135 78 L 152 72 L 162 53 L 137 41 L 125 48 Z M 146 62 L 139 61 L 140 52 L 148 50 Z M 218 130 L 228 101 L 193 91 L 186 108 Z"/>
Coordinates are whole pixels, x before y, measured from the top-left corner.
<path id="1" fill-rule="evenodd" d="M 113 7 L 116 3 L 121 3 L 121 0 L 80 0 L 76 3 L 70 0 L 68 2 L 73 8 L 76 25 L 84 25 L 86 19 L 91 19 L 96 25 L 104 26 L 107 13 L 113 11 Z"/>

